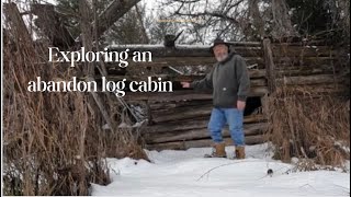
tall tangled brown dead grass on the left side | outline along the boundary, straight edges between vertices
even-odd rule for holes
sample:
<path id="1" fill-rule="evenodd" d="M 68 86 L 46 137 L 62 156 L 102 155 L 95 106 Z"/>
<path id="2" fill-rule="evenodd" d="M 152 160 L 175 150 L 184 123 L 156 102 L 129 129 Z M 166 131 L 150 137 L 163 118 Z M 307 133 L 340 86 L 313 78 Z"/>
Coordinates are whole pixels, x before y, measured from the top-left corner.
<path id="1" fill-rule="evenodd" d="M 11 26 L 3 42 L 4 195 L 89 195 L 90 183 L 110 183 L 106 157 L 146 158 L 132 134 L 102 129 L 90 94 L 27 92 L 36 77 L 69 79 L 82 69 L 47 63 L 48 45 L 34 46 Z"/>

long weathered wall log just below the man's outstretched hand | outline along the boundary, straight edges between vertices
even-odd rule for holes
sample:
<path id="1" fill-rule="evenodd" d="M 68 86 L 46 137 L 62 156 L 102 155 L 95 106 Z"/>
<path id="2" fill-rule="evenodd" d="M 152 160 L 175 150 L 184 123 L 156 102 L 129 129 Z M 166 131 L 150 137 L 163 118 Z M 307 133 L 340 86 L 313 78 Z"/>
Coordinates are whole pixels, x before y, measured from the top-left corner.
<path id="1" fill-rule="evenodd" d="M 248 96 L 263 96 L 268 93 L 267 86 L 251 88 Z M 124 96 L 125 100 L 129 101 L 183 101 L 183 100 L 212 100 L 210 93 L 196 93 L 193 90 L 155 93 L 155 92 L 127 92 Z"/>

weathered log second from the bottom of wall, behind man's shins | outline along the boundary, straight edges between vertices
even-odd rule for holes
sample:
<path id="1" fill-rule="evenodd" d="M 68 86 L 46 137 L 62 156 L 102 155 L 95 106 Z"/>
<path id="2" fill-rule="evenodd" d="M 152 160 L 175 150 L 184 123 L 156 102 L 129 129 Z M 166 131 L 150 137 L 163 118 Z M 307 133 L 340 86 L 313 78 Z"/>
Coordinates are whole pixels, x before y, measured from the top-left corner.
<path id="1" fill-rule="evenodd" d="M 246 124 L 244 125 L 245 136 L 256 136 L 261 135 L 268 128 L 267 123 L 260 124 Z M 223 137 L 230 137 L 230 132 L 228 127 L 223 129 Z M 146 132 L 144 135 L 144 139 L 146 143 L 162 143 L 162 142 L 171 142 L 171 141 L 186 141 L 186 140 L 195 140 L 195 139 L 204 139 L 210 138 L 211 135 L 207 128 L 197 128 L 191 130 L 181 130 L 181 131 L 172 131 L 168 132 Z"/>

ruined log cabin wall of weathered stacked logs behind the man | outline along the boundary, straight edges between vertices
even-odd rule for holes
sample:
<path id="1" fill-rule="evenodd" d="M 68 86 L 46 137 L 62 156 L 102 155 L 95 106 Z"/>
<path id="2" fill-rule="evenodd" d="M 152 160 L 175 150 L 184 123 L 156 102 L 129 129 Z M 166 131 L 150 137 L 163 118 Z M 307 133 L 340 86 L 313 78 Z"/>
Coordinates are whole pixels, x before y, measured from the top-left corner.
<path id="1" fill-rule="evenodd" d="M 184 90 L 180 85 L 181 81 L 204 78 L 215 62 L 210 46 L 110 46 L 111 50 L 125 48 L 152 51 L 154 61 L 132 65 L 131 69 L 138 73 L 129 72 L 129 68 L 118 72 L 117 67 L 107 65 L 107 78 L 117 80 L 127 76 L 131 80 L 143 80 L 147 73 L 154 73 L 155 78 L 162 77 L 173 82 L 172 93 L 127 93 L 125 96 L 126 102 L 144 102 L 147 106 L 148 125 L 141 132 L 146 148 L 165 150 L 211 146 L 206 129 L 212 109 L 211 92 Z M 276 86 L 308 89 L 316 95 L 349 95 L 349 57 L 344 48 L 318 42 L 272 43 L 265 38 L 263 42 L 231 43 L 231 49 L 247 60 L 251 79 L 251 93 L 245 111 L 247 144 L 265 141 L 270 107 L 264 106 L 264 100 Z M 224 137 L 231 144 L 227 128 Z"/>

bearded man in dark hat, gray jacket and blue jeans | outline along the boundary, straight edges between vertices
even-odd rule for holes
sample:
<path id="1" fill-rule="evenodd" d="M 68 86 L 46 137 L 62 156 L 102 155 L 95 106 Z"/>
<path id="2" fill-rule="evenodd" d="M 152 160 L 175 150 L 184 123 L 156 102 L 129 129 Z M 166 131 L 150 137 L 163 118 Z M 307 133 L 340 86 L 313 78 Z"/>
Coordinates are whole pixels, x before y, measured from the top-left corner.
<path id="1" fill-rule="evenodd" d="M 208 131 L 214 149 L 207 158 L 226 158 L 222 129 L 229 125 L 230 137 L 236 147 L 237 159 L 245 159 L 245 135 L 242 130 L 244 109 L 250 90 L 250 78 L 245 59 L 230 53 L 229 44 L 217 38 L 211 47 L 217 62 L 202 80 L 192 83 L 181 82 L 183 88 L 213 90 L 213 105 Z"/>

